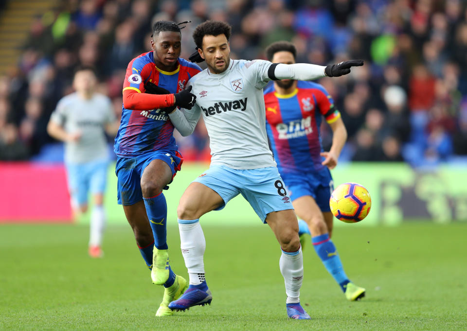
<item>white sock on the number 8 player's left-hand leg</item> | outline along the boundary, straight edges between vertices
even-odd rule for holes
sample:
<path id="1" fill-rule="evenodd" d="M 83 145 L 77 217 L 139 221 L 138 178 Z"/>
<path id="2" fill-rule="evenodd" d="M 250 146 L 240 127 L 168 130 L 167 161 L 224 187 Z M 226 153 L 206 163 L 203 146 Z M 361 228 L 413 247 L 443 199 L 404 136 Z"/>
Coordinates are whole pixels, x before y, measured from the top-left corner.
<path id="1" fill-rule="evenodd" d="M 204 250 L 206 241 L 198 220 L 179 220 L 180 248 L 190 275 L 190 284 L 204 281 Z"/>

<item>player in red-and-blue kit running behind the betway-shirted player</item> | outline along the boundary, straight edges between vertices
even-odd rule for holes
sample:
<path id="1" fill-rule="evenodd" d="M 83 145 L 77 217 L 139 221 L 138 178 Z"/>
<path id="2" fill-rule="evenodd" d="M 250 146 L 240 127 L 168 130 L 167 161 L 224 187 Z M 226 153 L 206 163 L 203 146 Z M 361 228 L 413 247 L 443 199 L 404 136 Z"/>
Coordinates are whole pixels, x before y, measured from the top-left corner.
<path id="1" fill-rule="evenodd" d="M 294 64 L 296 54 L 295 46 L 287 41 L 275 42 L 266 49 L 273 63 Z M 334 188 L 329 169 L 337 165 L 347 139 L 341 114 L 324 87 L 314 82 L 275 81 L 264 89 L 264 101 L 266 132 L 295 212 L 302 219 L 300 234 L 311 231 L 313 247 L 326 270 L 348 300 L 358 300 L 365 296 L 365 289 L 347 278 L 331 241 L 329 198 Z M 323 152 L 321 146 L 322 116 L 333 132 L 329 152 Z"/>

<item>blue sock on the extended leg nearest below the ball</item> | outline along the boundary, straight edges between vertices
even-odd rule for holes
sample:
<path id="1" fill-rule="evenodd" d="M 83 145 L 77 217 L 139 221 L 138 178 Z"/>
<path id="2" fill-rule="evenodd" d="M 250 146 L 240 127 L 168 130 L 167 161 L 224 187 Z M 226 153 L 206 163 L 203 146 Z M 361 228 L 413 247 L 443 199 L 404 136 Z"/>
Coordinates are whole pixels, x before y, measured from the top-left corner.
<path id="1" fill-rule="evenodd" d="M 341 259 L 337 254 L 336 246 L 332 243 L 329 238 L 329 234 L 325 233 L 320 236 L 311 238 L 313 247 L 316 253 L 323 261 L 324 267 L 331 274 L 332 277 L 341 286 L 343 292 L 345 292 L 345 285 L 350 281 L 345 275 L 344 268 L 342 266 Z"/>

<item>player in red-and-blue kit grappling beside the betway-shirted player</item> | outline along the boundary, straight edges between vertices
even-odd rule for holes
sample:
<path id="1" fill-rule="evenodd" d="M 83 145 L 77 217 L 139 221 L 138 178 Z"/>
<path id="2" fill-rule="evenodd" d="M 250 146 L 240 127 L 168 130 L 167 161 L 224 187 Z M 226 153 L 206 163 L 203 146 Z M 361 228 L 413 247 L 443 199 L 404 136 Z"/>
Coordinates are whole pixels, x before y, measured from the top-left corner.
<path id="1" fill-rule="evenodd" d="M 169 265 L 167 204 L 162 193 L 183 161 L 166 111 L 175 106 L 192 107 L 196 98 L 184 88 L 201 71 L 198 65 L 179 57 L 180 24 L 154 23 L 153 51 L 128 64 L 122 120 L 114 145 L 118 203 L 123 205 L 136 244 L 151 269 L 153 283 L 165 287 L 157 316 L 173 314 L 167 305 L 187 286 L 186 280 L 175 275 Z"/>

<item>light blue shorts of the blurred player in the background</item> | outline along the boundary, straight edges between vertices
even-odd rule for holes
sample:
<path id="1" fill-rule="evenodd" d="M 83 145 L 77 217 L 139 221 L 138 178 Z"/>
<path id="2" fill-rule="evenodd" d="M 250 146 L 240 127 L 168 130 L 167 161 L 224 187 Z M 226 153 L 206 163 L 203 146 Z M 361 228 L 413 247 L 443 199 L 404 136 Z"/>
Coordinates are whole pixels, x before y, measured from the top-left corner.
<path id="1" fill-rule="evenodd" d="M 66 162 L 68 188 L 75 207 L 88 203 L 89 192 L 104 194 L 107 185 L 108 160 L 84 163 Z"/>

